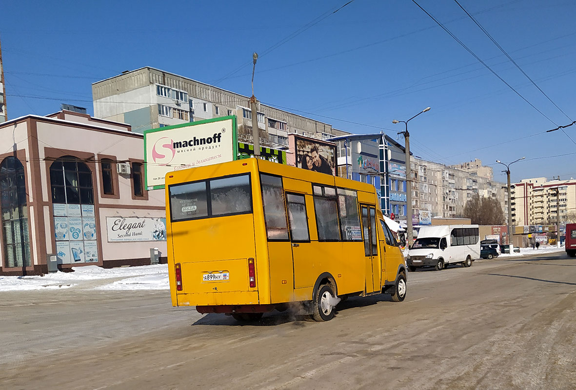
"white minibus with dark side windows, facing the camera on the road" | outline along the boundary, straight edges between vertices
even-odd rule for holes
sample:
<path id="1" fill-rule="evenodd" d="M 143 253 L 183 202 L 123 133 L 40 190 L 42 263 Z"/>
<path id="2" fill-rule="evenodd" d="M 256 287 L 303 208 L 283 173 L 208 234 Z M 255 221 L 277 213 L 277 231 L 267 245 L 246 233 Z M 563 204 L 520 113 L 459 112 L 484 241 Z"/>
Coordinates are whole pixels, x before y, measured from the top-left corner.
<path id="1" fill-rule="evenodd" d="M 480 258 L 478 225 L 422 226 L 406 258 L 408 270 L 461 263 L 469 267 Z"/>

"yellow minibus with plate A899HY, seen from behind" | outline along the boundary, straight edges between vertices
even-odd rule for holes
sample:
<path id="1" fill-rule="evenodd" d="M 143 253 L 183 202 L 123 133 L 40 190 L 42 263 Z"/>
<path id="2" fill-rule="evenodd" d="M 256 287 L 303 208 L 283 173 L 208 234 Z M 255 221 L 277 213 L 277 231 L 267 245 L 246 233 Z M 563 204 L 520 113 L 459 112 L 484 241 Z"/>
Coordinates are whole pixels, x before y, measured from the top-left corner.
<path id="1" fill-rule="evenodd" d="M 406 297 L 404 258 L 373 185 L 248 158 L 166 174 L 173 306 L 257 320 L 336 297 Z"/>

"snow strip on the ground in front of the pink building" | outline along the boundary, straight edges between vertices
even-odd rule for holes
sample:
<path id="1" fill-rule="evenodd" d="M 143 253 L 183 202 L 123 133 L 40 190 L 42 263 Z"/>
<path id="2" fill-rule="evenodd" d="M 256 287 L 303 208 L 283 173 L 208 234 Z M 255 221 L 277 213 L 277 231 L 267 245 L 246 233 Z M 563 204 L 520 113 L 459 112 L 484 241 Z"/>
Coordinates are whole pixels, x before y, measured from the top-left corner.
<path id="1" fill-rule="evenodd" d="M 86 281 L 123 278 L 99 286 L 105 290 L 164 290 L 168 289 L 168 266 L 157 264 L 140 267 L 101 268 L 73 267 L 74 272 L 54 272 L 41 276 L 0 277 L 0 291 L 67 289 Z"/>

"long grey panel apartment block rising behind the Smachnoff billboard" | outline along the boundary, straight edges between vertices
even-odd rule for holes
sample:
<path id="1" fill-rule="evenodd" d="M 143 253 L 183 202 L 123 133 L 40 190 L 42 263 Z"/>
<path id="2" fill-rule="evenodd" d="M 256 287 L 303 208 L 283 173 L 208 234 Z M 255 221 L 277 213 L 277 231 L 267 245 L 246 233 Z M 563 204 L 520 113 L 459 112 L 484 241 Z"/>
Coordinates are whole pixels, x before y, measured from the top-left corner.
<path id="1" fill-rule="evenodd" d="M 92 84 L 94 116 L 128 123 L 133 132 L 236 115 L 238 141 L 252 143 L 249 97 L 151 67 L 125 71 Z M 260 145 L 288 146 L 288 133 L 327 139 L 348 134 L 330 124 L 258 102 Z"/>

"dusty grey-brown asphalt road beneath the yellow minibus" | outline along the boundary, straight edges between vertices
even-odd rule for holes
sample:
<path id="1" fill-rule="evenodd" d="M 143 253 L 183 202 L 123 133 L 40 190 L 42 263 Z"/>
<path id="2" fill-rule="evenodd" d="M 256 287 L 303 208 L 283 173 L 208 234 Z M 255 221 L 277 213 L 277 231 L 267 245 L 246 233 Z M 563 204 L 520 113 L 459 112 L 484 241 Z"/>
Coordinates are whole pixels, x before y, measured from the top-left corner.
<path id="1" fill-rule="evenodd" d="M 408 275 L 406 301 L 240 325 L 166 291 L 1 293 L 2 389 L 575 389 L 576 260 Z"/>

